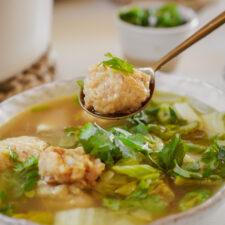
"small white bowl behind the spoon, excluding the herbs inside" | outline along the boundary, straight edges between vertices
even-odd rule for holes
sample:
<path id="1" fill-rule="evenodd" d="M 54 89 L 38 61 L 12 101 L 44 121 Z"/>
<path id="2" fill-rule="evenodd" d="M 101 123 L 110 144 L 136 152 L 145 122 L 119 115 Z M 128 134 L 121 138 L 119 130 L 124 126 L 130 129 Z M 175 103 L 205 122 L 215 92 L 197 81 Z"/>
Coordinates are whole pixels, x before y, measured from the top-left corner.
<path id="1" fill-rule="evenodd" d="M 163 4 L 165 2 L 137 2 L 125 6 L 124 9 L 127 10 L 133 7 L 156 9 Z M 187 22 L 184 25 L 171 28 L 133 25 L 121 20 L 118 12 L 116 26 L 124 58 L 136 66 L 151 66 L 194 33 L 199 24 L 196 13 L 192 9 L 180 5 L 178 10 Z"/>

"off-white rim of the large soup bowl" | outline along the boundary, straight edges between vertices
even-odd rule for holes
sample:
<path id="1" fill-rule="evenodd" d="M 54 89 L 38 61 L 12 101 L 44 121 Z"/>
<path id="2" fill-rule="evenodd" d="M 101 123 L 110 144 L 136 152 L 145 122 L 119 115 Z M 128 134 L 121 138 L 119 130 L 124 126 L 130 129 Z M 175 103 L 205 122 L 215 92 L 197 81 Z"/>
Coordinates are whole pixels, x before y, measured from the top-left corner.
<path id="1" fill-rule="evenodd" d="M 157 76 L 168 76 L 168 75 L 166 75 L 166 73 L 159 72 L 157 74 Z M 203 85 L 206 88 L 210 88 L 211 90 L 215 90 L 217 92 L 220 92 L 221 94 L 223 94 L 225 96 L 225 91 L 224 90 L 219 89 L 216 86 L 214 86 L 214 85 L 212 85 L 212 84 L 210 84 L 208 82 L 201 81 L 200 79 L 184 77 L 184 76 L 179 76 L 179 75 L 169 75 L 169 76 L 173 77 L 174 79 L 183 80 L 184 82 L 185 81 L 187 81 L 187 82 L 197 82 L 200 85 Z M 84 76 L 76 77 L 76 79 L 56 80 L 56 81 L 53 81 L 53 82 L 50 82 L 50 83 L 46 83 L 46 84 L 40 85 L 38 87 L 31 88 L 29 90 L 26 90 L 26 91 L 24 91 L 22 93 L 16 94 L 16 95 L 6 99 L 5 101 L 1 102 L 0 103 L 0 108 L 1 108 L 2 105 L 6 105 L 6 104 L 8 104 L 10 102 L 13 102 L 14 100 L 16 100 L 17 98 L 19 98 L 21 96 L 26 96 L 27 95 L 29 97 L 28 94 L 34 93 L 36 90 L 40 90 L 42 88 L 45 88 L 45 89 L 54 88 L 54 87 L 57 87 L 56 84 L 64 85 L 64 84 L 67 84 L 68 82 L 75 82 L 76 80 L 79 80 L 79 79 L 84 79 Z M 172 215 L 163 217 L 163 218 L 158 219 L 156 221 L 147 223 L 146 225 L 166 225 L 169 222 L 175 222 L 175 221 L 179 221 L 179 220 L 182 220 L 184 218 L 193 216 L 193 215 L 195 215 L 195 214 L 197 214 L 197 213 L 199 213 L 199 212 L 201 212 L 201 211 L 203 211 L 203 210 L 205 210 L 205 209 L 215 205 L 216 203 L 221 202 L 224 196 L 225 196 L 225 184 L 223 184 L 221 186 L 221 188 L 217 191 L 216 194 L 214 194 L 211 198 L 209 198 L 207 201 L 205 201 L 201 205 L 196 206 L 196 207 L 194 207 L 194 208 L 192 208 L 192 209 L 190 209 L 190 210 L 188 210 L 186 212 L 176 213 L 176 214 L 172 214 Z M 36 223 L 31 222 L 29 220 L 15 219 L 15 218 L 11 218 L 11 217 L 5 216 L 3 214 L 0 214 L 0 223 L 1 223 L 1 221 L 5 222 L 7 225 L 14 225 L 15 222 L 16 222 L 17 225 L 35 225 L 36 224 Z"/>

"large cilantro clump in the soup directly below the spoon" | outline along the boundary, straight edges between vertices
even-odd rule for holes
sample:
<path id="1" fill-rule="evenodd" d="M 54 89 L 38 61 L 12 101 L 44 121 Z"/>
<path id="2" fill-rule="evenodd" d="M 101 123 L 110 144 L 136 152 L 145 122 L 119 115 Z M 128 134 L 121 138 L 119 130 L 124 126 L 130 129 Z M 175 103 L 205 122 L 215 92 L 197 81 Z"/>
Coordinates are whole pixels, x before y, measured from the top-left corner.
<path id="1" fill-rule="evenodd" d="M 134 158 L 141 152 L 150 158 L 151 149 L 144 143 L 142 134 L 131 134 L 123 129 L 104 130 L 98 125 L 87 123 L 80 132 L 80 142 L 86 153 L 112 165 L 122 158 Z"/>

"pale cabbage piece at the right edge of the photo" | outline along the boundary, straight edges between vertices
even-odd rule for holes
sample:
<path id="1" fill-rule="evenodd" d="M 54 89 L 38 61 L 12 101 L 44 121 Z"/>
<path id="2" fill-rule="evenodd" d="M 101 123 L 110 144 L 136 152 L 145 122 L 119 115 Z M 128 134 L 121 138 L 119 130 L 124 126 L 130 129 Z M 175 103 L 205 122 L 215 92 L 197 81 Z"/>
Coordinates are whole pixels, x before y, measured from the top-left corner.
<path id="1" fill-rule="evenodd" d="M 202 115 L 206 132 L 209 135 L 222 135 L 225 133 L 225 113 L 213 112 Z"/>

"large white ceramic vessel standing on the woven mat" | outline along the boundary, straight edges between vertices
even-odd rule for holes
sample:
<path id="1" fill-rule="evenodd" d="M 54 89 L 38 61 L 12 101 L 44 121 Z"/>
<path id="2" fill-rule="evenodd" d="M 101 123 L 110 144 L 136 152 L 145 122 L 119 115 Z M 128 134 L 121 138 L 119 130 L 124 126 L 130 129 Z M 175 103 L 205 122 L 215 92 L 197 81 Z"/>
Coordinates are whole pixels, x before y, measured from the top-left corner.
<path id="1" fill-rule="evenodd" d="M 0 0 L 0 82 L 47 51 L 52 4 L 52 0 Z"/>

